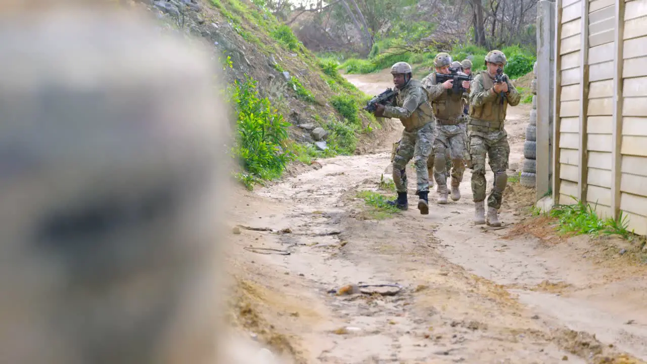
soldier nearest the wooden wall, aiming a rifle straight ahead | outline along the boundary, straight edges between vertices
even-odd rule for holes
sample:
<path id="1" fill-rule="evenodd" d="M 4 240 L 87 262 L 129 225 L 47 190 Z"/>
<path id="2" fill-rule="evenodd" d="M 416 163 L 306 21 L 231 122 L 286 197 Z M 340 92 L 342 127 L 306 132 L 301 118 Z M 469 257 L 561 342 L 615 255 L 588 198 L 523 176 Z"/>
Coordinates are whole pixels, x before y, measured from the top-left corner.
<path id="1" fill-rule="evenodd" d="M 498 210 L 501 207 L 503 190 L 507 185 L 508 157 L 510 145 L 508 134 L 503 128 L 508 105 L 519 104 L 520 95 L 509 78 L 494 83 L 497 69 L 505 66 L 507 60 L 501 51 L 490 51 L 485 56 L 486 71 L 476 74 L 470 92 L 470 154 L 472 154 L 472 192 L 474 192 L 474 223 L 501 226 Z M 487 220 L 485 220 L 485 155 L 494 172 L 494 186 L 488 198 Z"/>

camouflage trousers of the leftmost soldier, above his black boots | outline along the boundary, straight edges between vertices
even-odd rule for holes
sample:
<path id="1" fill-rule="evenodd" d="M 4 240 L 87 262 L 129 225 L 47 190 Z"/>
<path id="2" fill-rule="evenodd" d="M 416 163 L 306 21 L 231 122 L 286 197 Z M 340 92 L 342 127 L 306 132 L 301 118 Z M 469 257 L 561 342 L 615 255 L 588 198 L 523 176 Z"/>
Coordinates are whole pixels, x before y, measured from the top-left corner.
<path id="1" fill-rule="evenodd" d="M 398 192 L 406 192 L 406 165 L 413 158 L 415 164 L 416 192 L 429 190 L 429 174 L 426 161 L 432 152 L 434 122 L 422 126 L 417 131 L 402 131 L 395 156 L 393 157 L 393 182 Z"/>

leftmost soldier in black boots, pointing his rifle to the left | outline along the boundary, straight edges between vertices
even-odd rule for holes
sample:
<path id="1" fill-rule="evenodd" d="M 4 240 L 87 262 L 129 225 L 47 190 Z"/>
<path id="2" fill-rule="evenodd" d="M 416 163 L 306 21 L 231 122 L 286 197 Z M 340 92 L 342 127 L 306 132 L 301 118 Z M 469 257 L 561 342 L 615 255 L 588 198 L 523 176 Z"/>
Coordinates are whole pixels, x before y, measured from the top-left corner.
<path id="1" fill-rule="evenodd" d="M 397 62 L 391 67 L 397 94 L 391 105 L 378 104 L 375 116 L 398 118 L 404 126 L 402 139 L 393 159 L 393 182 L 398 198 L 389 201 L 389 204 L 402 210 L 408 209 L 406 165 L 413 158 L 417 175 L 418 209 L 426 215 L 429 213 L 426 161 L 432 152 L 435 122 L 426 90 L 420 81 L 411 79 L 411 73 L 411 66 L 406 62 Z"/>

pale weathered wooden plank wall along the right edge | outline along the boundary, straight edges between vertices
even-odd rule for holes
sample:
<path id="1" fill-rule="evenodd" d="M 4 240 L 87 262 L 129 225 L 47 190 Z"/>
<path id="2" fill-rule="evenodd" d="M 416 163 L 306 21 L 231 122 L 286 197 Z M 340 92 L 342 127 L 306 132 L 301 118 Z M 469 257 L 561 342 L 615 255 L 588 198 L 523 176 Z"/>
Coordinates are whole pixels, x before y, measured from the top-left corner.
<path id="1" fill-rule="evenodd" d="M 558 0 L 553 198 L 647 234 L 647 0 Z"/>

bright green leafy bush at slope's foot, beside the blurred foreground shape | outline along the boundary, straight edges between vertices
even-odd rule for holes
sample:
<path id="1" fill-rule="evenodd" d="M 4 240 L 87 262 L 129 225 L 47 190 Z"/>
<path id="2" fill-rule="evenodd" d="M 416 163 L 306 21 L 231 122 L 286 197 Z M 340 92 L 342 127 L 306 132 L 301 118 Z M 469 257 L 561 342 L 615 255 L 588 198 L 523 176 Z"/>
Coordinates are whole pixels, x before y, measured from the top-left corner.
<path id="1" fill-rule="evenodd" d="M 254 181 L 281 176 L 291 160 L 286 152 L 290 124 L 272 109 L 267 98 L 260 98 L 256 80 L 247 76 L 230 88 L 236 106 L 236 142 L 232 152 L 248 172 L 239 178 L 251 188 Z"/>

